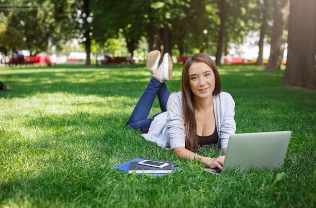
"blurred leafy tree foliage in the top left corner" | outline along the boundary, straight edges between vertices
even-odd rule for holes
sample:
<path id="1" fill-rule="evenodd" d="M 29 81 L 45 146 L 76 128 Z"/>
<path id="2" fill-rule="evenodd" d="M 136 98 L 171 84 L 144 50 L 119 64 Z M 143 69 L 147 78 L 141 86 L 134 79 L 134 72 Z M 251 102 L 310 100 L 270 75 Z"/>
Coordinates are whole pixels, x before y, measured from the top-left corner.
<path id="1" fill-rule="evenodd" d="M 74 9 L 70 0 L 2 1 L 1 13 L 8 17 L 9 27 L 23 33 L 26 49 L 47 51 L 52 44 L 60 47 L 74 37 L 70 21 Z"/>

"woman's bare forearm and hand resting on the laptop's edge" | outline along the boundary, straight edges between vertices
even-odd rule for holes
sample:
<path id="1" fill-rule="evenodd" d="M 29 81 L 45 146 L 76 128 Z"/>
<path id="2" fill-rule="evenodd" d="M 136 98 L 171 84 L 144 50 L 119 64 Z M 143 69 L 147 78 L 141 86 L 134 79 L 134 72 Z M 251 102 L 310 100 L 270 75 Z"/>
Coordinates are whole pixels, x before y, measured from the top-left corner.
<path id="1" fill-rule="evenodd" d="M 172 151 L 179 158 L 187 158 L 190 160 L 201 160 L 210 168 L 219 168 L 220 170 L 222 170 L 223 168 L 225 156 L 219 156 L 217 158 L 203 157 L 185 149 L 184 147 L 177 147 L 177 148 L 172 149 Z M 225 149 L 225 152 L 226 152 L 226 149 Z"/>

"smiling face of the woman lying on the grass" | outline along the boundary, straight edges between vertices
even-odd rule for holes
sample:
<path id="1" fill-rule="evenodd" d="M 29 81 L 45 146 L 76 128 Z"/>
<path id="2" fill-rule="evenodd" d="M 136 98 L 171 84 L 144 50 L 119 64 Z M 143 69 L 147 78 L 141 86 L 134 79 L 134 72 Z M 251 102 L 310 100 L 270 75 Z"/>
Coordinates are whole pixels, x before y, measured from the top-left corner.
<path id="1" fill-rule="evenodd" d="M 193 62 L 189 67 L 190 88 L 197 98 L 213 95 L 215 89 L 215 75 L 206 63 Z"/>

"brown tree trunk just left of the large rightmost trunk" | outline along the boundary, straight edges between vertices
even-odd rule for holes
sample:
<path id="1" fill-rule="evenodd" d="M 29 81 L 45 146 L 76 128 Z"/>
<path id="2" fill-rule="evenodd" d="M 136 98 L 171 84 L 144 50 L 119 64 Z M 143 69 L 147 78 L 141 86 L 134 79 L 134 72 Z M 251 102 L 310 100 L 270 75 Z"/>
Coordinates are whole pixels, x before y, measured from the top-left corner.
<path id="1" fill-rule="evenodd" d="M 282 33 L 286 26 L 286 20 L 290 8 L 289 0 L 273 0 L 275 10 L 274 23 L 271 35 L 271 51 L 269 62 L 265 70 L 281 70 L 283 59 Z"/>

